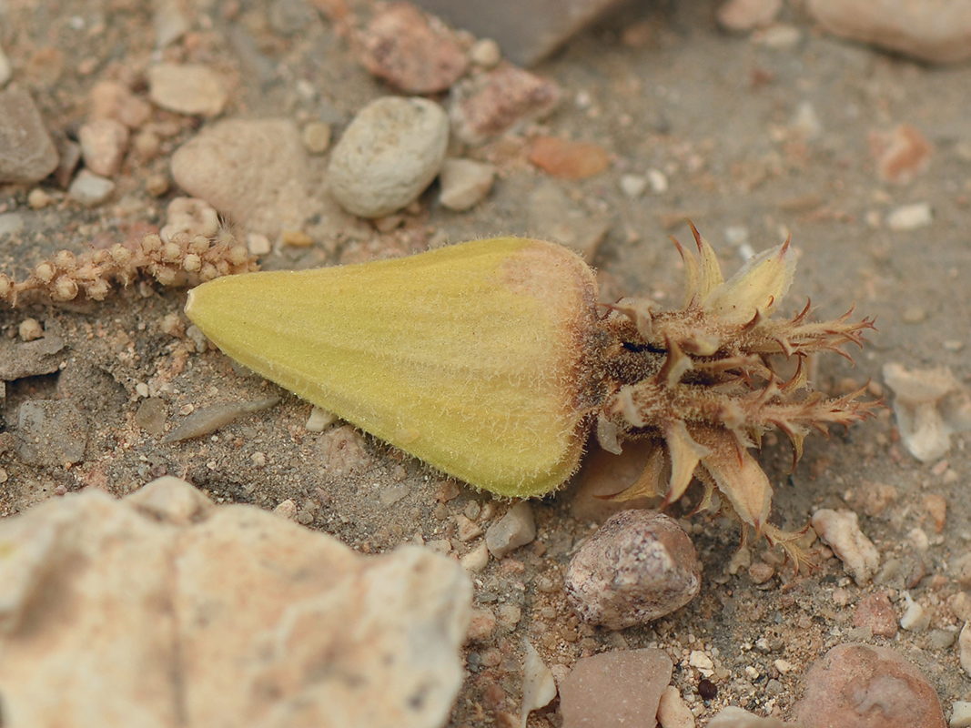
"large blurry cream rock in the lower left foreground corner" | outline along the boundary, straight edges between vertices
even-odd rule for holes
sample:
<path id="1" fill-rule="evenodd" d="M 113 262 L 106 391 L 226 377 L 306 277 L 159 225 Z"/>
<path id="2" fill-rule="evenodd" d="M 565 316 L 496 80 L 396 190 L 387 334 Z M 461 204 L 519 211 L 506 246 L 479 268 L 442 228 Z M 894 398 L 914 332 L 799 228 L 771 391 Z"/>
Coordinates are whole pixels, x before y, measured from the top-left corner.
<path id="1" fill-rule="evenodd" d="M 0 523 L 9 728 L 441 726 L 471 585 L 165 478 Z"/>

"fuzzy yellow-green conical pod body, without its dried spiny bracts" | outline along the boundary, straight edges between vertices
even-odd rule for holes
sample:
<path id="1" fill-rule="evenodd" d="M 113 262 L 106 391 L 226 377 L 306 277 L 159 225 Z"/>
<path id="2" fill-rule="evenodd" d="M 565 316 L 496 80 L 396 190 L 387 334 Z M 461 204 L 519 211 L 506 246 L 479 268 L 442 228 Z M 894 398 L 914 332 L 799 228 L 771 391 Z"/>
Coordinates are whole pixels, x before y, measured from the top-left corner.
<path id="1" fill-rule="evenodd" d="M 596 283 L 542 241 L 205 283 L 185 313 L 226 354 L 473 485 L 551 491 L 591 411 Z"/>

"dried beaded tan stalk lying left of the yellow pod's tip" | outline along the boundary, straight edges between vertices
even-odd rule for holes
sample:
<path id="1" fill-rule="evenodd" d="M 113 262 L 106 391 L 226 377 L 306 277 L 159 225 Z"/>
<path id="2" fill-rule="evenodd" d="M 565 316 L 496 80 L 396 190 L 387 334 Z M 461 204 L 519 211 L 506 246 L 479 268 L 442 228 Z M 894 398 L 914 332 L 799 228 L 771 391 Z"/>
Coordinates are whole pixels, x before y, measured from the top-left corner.
<path id="1" fill-rule="evenodd" d="M 256 269 L 255 258 L 246 246 L 225 230 L 214 238 L 180 233 L 167 241 L 151 234 L 133 246 L 118 244 L 85 250 L 80 255 L 61 250 L 53 259 L 34 266 L 24 281 L 0 274 L 0 300 L 11 306 L 17 306 L 25 295 L 56 302 L 79 298 L 101 301 L 113 286 L 129 285 L 140 278 L 187 286 Z"/>

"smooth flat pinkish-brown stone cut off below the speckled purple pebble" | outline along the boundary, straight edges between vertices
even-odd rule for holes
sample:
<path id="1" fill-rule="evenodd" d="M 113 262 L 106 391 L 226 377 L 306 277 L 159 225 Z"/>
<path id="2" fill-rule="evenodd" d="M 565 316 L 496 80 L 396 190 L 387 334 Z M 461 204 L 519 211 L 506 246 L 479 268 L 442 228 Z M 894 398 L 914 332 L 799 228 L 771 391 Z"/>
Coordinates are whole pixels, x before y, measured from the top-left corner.
<path id="1" fill-rule="evenodd" d="M 559 683 L 563 728 L 644 725 L 671 681 L 671 658 L 651 647 L 581 657 Z"/>

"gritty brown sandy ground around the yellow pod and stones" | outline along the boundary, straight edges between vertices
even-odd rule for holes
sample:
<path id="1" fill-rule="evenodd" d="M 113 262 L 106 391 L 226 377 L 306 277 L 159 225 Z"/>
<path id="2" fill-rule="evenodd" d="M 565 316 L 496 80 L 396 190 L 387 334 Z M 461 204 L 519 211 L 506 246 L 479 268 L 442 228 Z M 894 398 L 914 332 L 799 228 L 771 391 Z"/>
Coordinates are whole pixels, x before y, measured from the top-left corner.
<path id="1" fill-rule="evenodd" d="M 148 4 L 6 4 L 4 47 L 20 59 L 20 83 L 35 91 L 51 126 L 76 130 L 92 83 L 123 76 L 125 67 L 146 66 L 151 13 L 143 5 Z M 267 24 L 261 3 L 240 3 L 232 23 L 224 11 L 217 4 L 211 8 L 213 30 L 197 34 L 194 52 L 236 80 L 225 116 L 319 118 L 334 125 L 336 136 L 364 102 L 385 92 L 356 63 L 330 23 L 318 19 L 283 38 Z M 867 380 L 879 387 L 882 367 L 891 361 L 908 367 L 949 366 L 959 380 L 965 379 L 971 319 L 964 281 L 971 266 L 966 100 L 971 67 L 923 67 L 833 40 L 792 9 L 782 19 L 799 29 L 799 40 L 782 49 L 766 48 L 750 36 L 720 32 L 713 12 L 710 2 L 629 9 L 536 69 L 564 91 L 564 102 L 547 122 L 549 131 L 598 143 L 615 158 L 605 174 L 560 182 L 578 208 L 609 223 L 593 260 L 605 298 L 646 292 L 662 302 L 680 300 L 680 261 L 667 236 L 688 235 L 681 221 L 686 215 L 712 240 L 728 269 L 742 258 L 726 231 L 735 241 L 745 237 L 729 228 L 745 228 L 756 250 L 776 245 L 791 231 L 800 261 L 787 311 L 801 308 L 810 297 L 820 317 L 854 305 L 858 314 L 877 317 L 879 331 L 868 335 L 863 351 L 854 352 L 855 366 L 838 357 L 820 360 L 821 389 L 841 393 Z M 254 42 L 252 52 L 268 61 L 263 78 L 253 71 L 252 57 L 240 56 L 239 44 L 218 40 L 230 24 L 245 28 Z M 313 98 L 298 92 L 296 80 L 312 84 L 317 90 Z M 146 183 L 151 175 L 166 173 L 165 151 L 190 138 L 197 126 L 191 119 L 175 123 L 178 131 L 163 153 L 149 162 L 126 162 L 116 178 L 114 201 L 99 208 L 60 201 L 35 211 L 26 205 L 29 188 L 0 189 L 0 207 L 26 220 L 18 235 L 0 240 L 4 268 L 22 277 L 32 262 L 57 249 L 80 252 L 161 224 L 165 205 L 178 190 L 153 197 Z M 934 153 L 913 181 L 885 182 L 875 168 L 870 134 L 901 123 L 918 128 Z M 327 249 L 285 248 L 266 267 L 308 267 L 417 250 L 436 234 L 438 240 L 446 236 L 457 242 L 527 232 L 525 200 L 542 174 L 525 161 L 515 140 L 480 153 L 497 162 L 500 179 L 472 211 L 454 214 L 438 207 L 432 190 L 419 214 L 398 230 Z M 663 173 L 665 191 L 649 186 L 636 199 L 620 191 L 622 174 L 645 175 L 649 169 Z M 932 209 L 928 225 L 887 227 L 889 212 L 914 203 Z M 272 509 L 292 499 L 301 522 L 363 551 L 383 551 L 420 536 L 462 555 L 471 546 L 452 538 L 453 516 L 483 518 L 483 510 L 487 515 L 507 508 L 350 429 L 308 432 L 308 404 L 237 374 L 217 352 L 181 358 L 176 351 L 180 342 L 160 327 L 166 314 L 183 306 L 184 291 L 146 283 L 102 304 L 2 314 L 0 325 L 11 335 L 28 314 L 55 321 L 68 345 L 59 374 L 8 384 L 7 424 L 0 433 L 7 474 L 0 492 L 4 515 L 55 492 L 97 485 L 120 494 L 167 473 L 192 481 L 217 501 Z M 254 400 L 267 392 L 285 397 L 273 410 L 241 419 L 213 438 L 162 445 L 134 421 L 140 404 L 137 385 L 150 381 L 170 382 L 170 422 L 188 405 L 198 409 L 225 400 Z M 70 397 L 89 422 L 84 461 L 70 469 L 26 465 L 14 447 L 18 406 L 54 396 Z M 924 631 L 873 642 L 891 642 L 917 664 L 946 710 L 954 700 L 971 698 L 955 646 L 941 646 L 946 634 L 953 636 L 960 626 L 948 606 L 959 591 L 949 564 L 968 550 L 971 540 L 971 506 L 962 497 L 971 471 L 965 442 L 958 436 L 944 459 L 921 464 L 897 441 L 885 412 L 846 435 L 810 438 L 789 476 L 787 445 L 770 440 L 761 459 L 778 486 L 776 521 L 798 528 L 814 508 L 851 508 L 884 563 L 899 562 L 896 573 L 884 574 L 877 586 L 859 587 L 839 561 L 820 559 L 812 573 L 794 576 L 780 566 L 772 579 L 756 585 L 744 568 L 734 575 L 726 571 L 738 544 L 737 527 L 699 517 L 692 521 L 692 537 L 704 568 L 701 595 L 650 627 L 622 634 L 578 629 L 559 588 L 571 553 L 595 528 L 593 519 L 575 515 L 569 487 L 537 502 L 537 541 L 477 575 L 477 606 L 492 608 L 500 624 L 489 643 L 470 648 L 479 654 L 473 661 L 480 668 L 470 674 L 451 724 L 485 726 L 500 711 L 518 711 L 524 638 L 537 645 L 549 664 L 565 666 L 611 645 L 661 646 L 675 658 L 674 684 L 696 708 L 701 725 L 727 704 L 787 716 L 809 664 L 828 646 L 854 637 L 854 605 L 874 589 L 888 591 L 898 616 L 901 592 L 908 589 L 932 618 Z M 326 472 L 321 463 L 329 464 Z M 874 483 L 892 486 L 895 497 L 874 503 Z M 948 504 L 939 533 L 923 506 L 928 494 L 940 494 Z M 926 534 L 926 548 L 908 538 L 913 529 Z M 765 548 L 764 542 L 755 545 L 753 560 L 777 563 L 771 554 L 761 555 Z M 720 690 L 707 703 L 697 697 L 699 674 L 686 664 L 690 650 L 716 657 Z M 790 670 L 780 672 L 778 660 Z M 747 666 L 757 678 L 749 677 Z M 534 728 L 559 723 L 555 704 L 530 720 Z"/>

